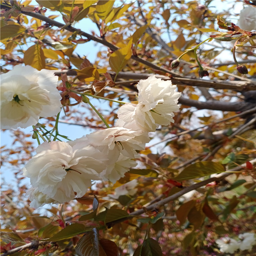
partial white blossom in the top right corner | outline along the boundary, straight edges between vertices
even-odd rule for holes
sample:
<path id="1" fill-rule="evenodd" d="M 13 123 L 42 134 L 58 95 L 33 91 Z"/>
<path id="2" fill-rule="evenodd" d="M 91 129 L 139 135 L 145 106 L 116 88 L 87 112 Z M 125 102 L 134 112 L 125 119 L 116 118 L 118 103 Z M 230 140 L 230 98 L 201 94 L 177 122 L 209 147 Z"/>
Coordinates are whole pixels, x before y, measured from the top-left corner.
<path id="1" fill-rule="evenodd" d="M 256 8 L 254 6 L 244 8 L 237 25 L 247 31 L 256 30 Z"/>

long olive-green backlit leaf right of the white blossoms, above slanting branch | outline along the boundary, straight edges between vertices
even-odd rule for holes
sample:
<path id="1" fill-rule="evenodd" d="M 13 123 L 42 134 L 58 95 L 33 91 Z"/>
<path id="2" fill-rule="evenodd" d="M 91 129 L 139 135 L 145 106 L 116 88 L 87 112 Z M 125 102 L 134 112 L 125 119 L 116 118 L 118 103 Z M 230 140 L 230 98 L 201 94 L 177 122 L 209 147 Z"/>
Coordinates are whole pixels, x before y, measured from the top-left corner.
<path id="1" fill-rule="evenodd" d="M 176 181 L 185 181 L 214 173 L 222 173 L 224 171 L 224 167 L 219 163 L 212 161 L 201 161 L 186 167 L 179 175 L 173 179 Z"/>

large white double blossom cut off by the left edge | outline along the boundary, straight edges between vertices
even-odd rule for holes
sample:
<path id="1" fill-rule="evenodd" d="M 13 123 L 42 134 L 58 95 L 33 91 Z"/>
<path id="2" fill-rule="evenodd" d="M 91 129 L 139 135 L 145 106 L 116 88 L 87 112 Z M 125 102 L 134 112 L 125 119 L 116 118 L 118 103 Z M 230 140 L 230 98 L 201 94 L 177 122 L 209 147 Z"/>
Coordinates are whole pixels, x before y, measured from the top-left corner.
<path id="1" fill-rule="evenodd" d="M 53 71 L 31 66 L 17 65 L 1 74 L 1 129 L 26 128 L 40 116 L 58 114 L 62 105 L 57 81 Z"/>

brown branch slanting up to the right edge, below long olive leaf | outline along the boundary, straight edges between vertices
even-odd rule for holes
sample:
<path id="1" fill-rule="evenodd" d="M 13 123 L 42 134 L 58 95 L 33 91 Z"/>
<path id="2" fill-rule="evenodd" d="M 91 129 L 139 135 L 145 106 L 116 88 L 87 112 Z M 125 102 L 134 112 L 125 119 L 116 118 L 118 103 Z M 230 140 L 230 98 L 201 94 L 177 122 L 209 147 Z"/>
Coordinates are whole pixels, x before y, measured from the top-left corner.
<path id="1" fill-rule="evenodd" d="M 255 165 L 256 164 L 256 159 L 253 159 L 252 161 L 250 161 L 252 163 L 252 165 Z M 135 212 L 131 212 L 130 215 L 140 215 L 140 214 L 143 214 L 145 211 L 151 211 L 151 210 L 154 210 L 155 208 L 159 208 L 167 203 L 169 203 L 170 201 L 173 201 L 179 197 L 181 197 L 182 195 L 188 193 L 189 191 L 192 191 L 194 189 L 197 189 L 197 188 L 200 188 L 202 186 L 205 186 L 211 182 L 214 182 L 214 181 L 221 181 L 223 180 L 225 177 L 229 176 L 230 174 L 232 174 L 232 172 L 239 172 L 241 171 L 243 168 L 245 167 L 245 164 L 243 164 L 242 166 L 237 166 L 231 170 L 229 170 L 229 172 L 225 172 L 225 173 L 221 173 L 221 174 L 218 174 L 216 175 L 215 177 L 212 177 L 212 178 L 209 178 L 207 180 L 204 180 L 204 181 L 201 181 L 199 183 L 195 183 L 189 187 L 186 187 L 184 189 L 182 189 L 181 191 L 177 192 L 176 194 L 174 195 L 171 195 L 165 199 L 162 199 L 156 203 L 153 203 L 151 205 L 149 205 L 148 207 L 146 207 L 146 209 L 140 209 L 140 210 L 137 210 Z"/>

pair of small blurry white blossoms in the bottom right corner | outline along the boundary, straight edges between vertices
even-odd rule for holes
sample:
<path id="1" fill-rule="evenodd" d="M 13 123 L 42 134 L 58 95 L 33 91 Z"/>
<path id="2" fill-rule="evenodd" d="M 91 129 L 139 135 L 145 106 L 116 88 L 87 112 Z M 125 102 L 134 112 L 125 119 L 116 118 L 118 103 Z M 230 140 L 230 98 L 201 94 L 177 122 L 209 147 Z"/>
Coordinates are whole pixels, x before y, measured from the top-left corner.
<path id="1" fill-rule="evenodd" d="M 216 240 L 216 243 L 222 253 L 234 253 L 236 250 L 252 250 L 256 244 L 254 233 L 243 233 L 238 236 L 240 241 L 229 237 L 222 237 Z"/>

